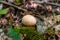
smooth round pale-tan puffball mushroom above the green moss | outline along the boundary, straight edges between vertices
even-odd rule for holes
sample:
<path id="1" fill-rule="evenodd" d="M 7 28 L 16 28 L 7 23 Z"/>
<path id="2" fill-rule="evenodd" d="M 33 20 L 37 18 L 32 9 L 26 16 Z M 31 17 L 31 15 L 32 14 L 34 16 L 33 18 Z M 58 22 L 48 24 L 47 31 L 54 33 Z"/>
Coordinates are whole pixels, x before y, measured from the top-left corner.
<path id="1" fill-rule="evenodd" d="M 23 18 L 22 18 L 22 23 L 26 26 L 33 26 L 36 24 L 36 18 L 32 15 L 25 15 Z"/>

